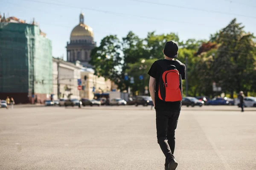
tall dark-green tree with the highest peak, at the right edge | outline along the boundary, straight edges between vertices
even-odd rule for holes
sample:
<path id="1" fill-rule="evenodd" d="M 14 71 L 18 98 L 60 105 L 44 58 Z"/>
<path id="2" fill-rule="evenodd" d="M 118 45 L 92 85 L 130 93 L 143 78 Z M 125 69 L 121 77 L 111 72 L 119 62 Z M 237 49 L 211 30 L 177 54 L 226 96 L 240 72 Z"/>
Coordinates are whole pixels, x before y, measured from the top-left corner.
<path id="1" fill-rule="evenodd" d="M 235 91 L 253 90 L 252 75 L 256 62 L 253 38 L 253 34 L 246 33 L 244 26 L 236 23 L 236 19 L 216 35 L 215 40 L 220 46 L 212 66 L 215 75 L 213 79 L 232 97 Z"/>

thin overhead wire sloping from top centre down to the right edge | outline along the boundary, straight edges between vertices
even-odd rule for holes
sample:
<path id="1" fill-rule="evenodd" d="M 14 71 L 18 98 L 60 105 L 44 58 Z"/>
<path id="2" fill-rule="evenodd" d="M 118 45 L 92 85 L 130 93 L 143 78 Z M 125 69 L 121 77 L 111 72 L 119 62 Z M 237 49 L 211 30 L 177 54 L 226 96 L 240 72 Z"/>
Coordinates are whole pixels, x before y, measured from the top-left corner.
<path id="1" fill-rule="evenodd" d="M 149 1 L 145 1 L 145 0 L 128 0 L 128 1 L 134 1 L 134 2 L 140 2 L 140 3 L 148 3 L 148 4 L 159 5 L 159 6 L 170 6 L 170 7 L 175 7 L 175 8 L 184 8 L 184 9 L 190 9 L 190 10 L 196 10 L 196 11 L 204 11 L 204 12 L 211 12 L 211 13 L 217 13 L 217 14 L 235 15 L 235 16 L 239 16 L 239 17 L 248 17 L 248 18 L 256 19 L 256 17 L 248 16 L 248 15 L 233 14 L 233 13 L 227 13 L 227 12 L 221 12 L 221 11 L 212 11 L 212 10 L 206 10 L 206 9 L 201 9 L 201 8 L 191 8 L 191 7 L 186 7 L 186 6 L 177 6 L 177 5 L 171 5 L 171 4 L 166 4 L 166 3 L 154 3 L 154 2 L 149 2 Z"/>

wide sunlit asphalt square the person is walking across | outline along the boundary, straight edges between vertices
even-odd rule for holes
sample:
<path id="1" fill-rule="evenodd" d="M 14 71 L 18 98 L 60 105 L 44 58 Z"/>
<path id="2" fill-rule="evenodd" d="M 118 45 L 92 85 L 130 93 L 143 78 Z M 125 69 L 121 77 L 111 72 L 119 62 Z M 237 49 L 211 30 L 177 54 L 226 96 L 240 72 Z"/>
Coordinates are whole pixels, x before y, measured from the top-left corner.
<path id="1" fill-rule="evenodd" d="M 183 107 L 177 170 L 256 170 L 256 108 Z M 150 107 L 0 109 L 0 170 L 164 170 Z"/>

